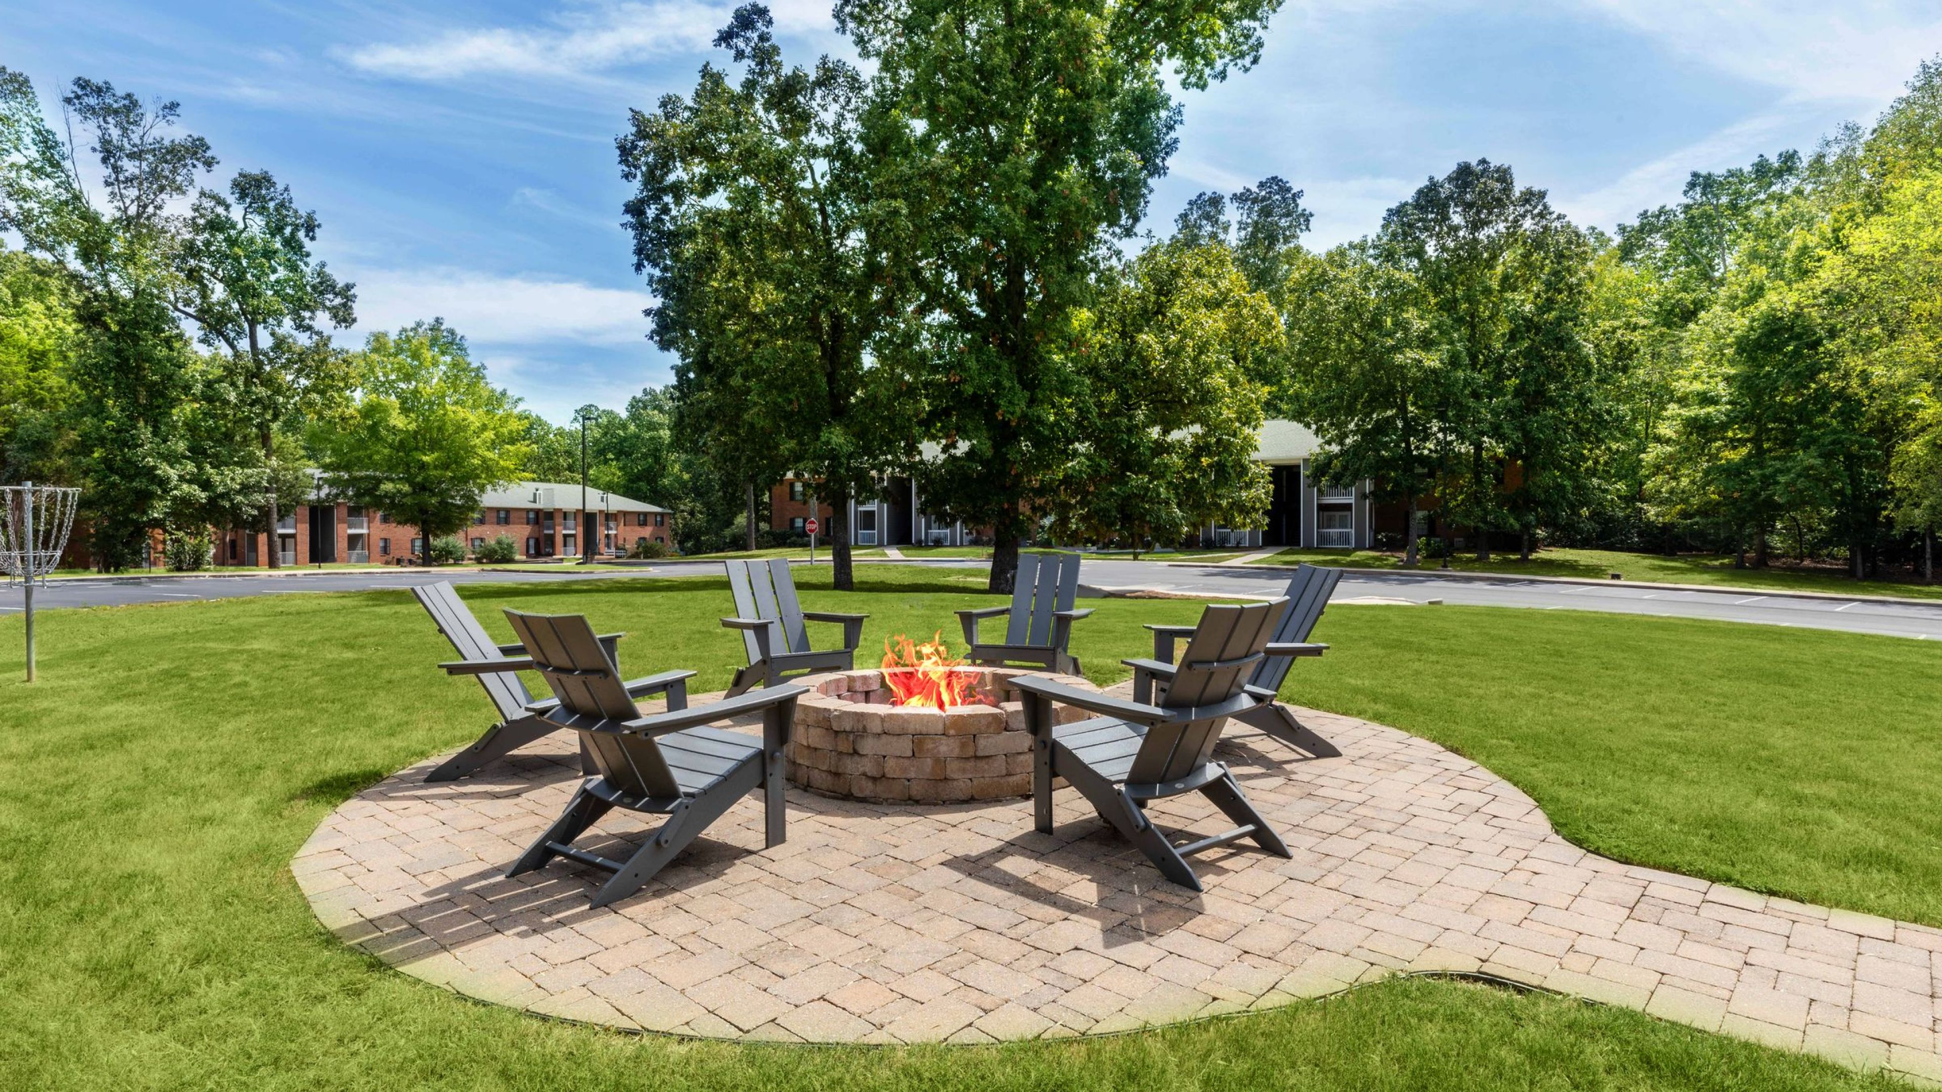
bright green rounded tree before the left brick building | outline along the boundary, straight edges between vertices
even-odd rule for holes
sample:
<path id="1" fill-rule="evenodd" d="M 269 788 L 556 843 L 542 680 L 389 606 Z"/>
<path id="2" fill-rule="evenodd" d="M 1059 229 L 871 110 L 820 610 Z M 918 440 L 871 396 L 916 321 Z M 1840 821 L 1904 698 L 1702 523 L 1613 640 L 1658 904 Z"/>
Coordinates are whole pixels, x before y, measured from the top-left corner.
<path id="1" fill-rule="evenodd" d="M 371 334 L 352 367 L 353 404 L 311 429 L 318 466 L 338 495 L 419 529 L 427 546 L 468 527 L 480 495 L 530 455 L 517 400 L 443 321 Z"/>

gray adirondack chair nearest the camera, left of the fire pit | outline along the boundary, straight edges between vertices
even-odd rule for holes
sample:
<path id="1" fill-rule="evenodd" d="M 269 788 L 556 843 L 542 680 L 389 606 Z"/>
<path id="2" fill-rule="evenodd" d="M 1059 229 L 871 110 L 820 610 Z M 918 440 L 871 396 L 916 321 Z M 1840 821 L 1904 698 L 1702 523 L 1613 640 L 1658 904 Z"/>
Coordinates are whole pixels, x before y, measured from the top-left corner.
<path id="1" fill-rule="evenodd" d="M 606 905 L 641 890 L 755 789 L 763 791 L 767 810 L 765 845 L 783 843 L 788 834 L 783 812 L 783 750 L 796 719 L 796 696 L 804 692 L 800 686 L 769 686 L 693 709 L 643 717 L 585 616 L 517 610 L 507 610 L 505 616 L 526 645 L 524 659 L 460 663 L 449 665 L 449 670 L 538 670 L 553 688 L 555 700 L 534 703 L 534 709 L 553 727 L 579 733 L 596 769 L 573 793 L 559 820 L 507 869 L 507 876 L 567 857 L 614 872 L 592 898 L 596 907 Z M 759 740 L 709 727 L 713 721 L 757 711 Z M 577 849 L 573 841 L 614 808 L 662 814 L 668 820 L 625 861 Z"/>

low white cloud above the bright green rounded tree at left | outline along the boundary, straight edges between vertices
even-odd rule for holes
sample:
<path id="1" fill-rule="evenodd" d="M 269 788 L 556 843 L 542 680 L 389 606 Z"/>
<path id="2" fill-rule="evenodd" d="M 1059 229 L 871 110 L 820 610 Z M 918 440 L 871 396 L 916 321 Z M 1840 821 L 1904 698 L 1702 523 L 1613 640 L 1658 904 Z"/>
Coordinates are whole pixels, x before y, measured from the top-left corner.
<path id="1" fill-rule="evenodd" d="M 353 280 L 359 336 L 445 319 L 486 346 L 647 346 L 641 309 L 654 303 L 645 291 L 451 268 L 363 270 Z"/>

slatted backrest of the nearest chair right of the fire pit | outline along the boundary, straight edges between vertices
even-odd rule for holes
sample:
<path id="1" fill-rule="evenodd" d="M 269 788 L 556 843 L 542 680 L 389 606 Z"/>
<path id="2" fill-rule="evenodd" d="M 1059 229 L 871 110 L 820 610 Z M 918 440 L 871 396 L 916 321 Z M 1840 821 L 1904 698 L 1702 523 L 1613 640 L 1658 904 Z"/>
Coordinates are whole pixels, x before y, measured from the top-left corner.
<path id="1" fill-rule="evenodd" d="M 1262 661 L 1262 649 L 1274 635 L 1274 620 L 1280 618 L 1288 600 L 1249 604 L 1214 604 L 1200 614 L 1187 651 L 1181 655 L 1167 696 L 1159 701 L 1163 709 L 1190 709 L 1196 705 L 1220 705 L 1241 694 L 1249 674 Z M 1227 717 L 1198 717 L 1171 725 L 1155 725 L 1140 740 L 1138 754 L 1132 756 L 1128 783 L 1155 785 L 1177 781 L 1206 766 L 1220 742 Z"/>

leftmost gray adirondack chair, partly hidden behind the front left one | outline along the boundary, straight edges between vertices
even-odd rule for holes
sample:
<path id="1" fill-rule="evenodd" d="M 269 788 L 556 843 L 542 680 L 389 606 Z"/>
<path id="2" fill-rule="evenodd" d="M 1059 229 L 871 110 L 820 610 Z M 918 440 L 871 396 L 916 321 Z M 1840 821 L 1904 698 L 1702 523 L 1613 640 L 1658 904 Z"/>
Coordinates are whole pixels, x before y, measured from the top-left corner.
<path id="1" fill-rule="evenodd" d="M 478 618 L 472 616 L 472 610 L 466 608 L 464 600 L 458 598 L 458 591 L 451 581 L 414 587 L 412 595 L 418 597 L 418 604 L 425 608 L 425 614 L 431 614 L 431 620 L 439 626 L 439 633 L 445 633 L 445 639 L 452 643 L 452 651 L 462 659 L 509 661 L 526 653 L 524 645 L 495 643 Z M 614 663 L 619 663 L 618 645 L 621 637 L 625 633 L 602 633 L 598 637 L 600 647 L 606 649 Z M 687 705 L 687 680 L 693 676 L 695 672 L 691 670 L 666 670 L 627 682 L 627 692 L 635 698 L 666 694 L 668 707 L 680 709 Z M 499 709 L 499 723 L 486 729 L 486 734 L 478 742 L 441 762 L 437 769 L 425 775 L 425 781 L 470 777 L 513 750 L 559 731 L 559 725 L 550 725 L 532 711 L 532 694 L 526 692 L 517 672 L 489 672 L 480 674 L 478 680 L 486 688 L 486 696 L 491 698 L 493 707 Z M 581 758 L 585 760 L 586 756 L 583 754 Z M 592 768 L 586 766 L 586 769 L 590 771 Z"/>

